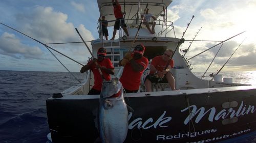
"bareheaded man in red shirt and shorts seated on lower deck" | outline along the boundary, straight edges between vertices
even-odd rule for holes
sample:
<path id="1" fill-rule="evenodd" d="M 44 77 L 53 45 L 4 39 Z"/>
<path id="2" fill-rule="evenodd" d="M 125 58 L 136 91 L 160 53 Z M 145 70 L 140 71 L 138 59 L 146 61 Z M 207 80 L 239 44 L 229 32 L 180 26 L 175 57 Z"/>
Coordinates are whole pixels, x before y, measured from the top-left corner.
<path id="1" fill-rule="evenodd" d="M 163 53 L 163 55 L 158 55 L 155 58 L 153 58 L 151 64 L 150 64 L 150 74 L 148 74 L 145 78 L 145 87 L 146 92 L 151 92 L 151 84 L 152 82 L 157 83 L 159 82 L 159 78 L 162 78 L 160 82 L 169 84 L 170 88 L 172 90 L 175 89 L 175 79 L 172 73 L 169 72 L 170 69 L 174 67 L 174 60 L 170 60 L 170 58 L 173 55 L 172 49 L 166 49 Z M 164 68 L 168 64 L 166 70 Z"/>

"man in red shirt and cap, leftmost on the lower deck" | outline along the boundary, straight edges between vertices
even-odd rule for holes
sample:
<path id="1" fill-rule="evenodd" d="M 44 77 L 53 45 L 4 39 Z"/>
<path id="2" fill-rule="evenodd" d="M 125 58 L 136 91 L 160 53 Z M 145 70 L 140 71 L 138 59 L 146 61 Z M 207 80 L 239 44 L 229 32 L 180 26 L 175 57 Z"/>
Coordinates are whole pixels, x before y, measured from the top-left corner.
<path id="1" fill-rule="evenodd" d="M 106 56 L 106 49 L 99 48 L 97 51 L 98 59 L 94 58 L 88 64 L 84 65 L 80 70 L 81 73 L 86 72 L 89 69 L 93 72 L 94 86 L 89 91 L 88 95 L 100 94 L 103 79 L 98 69 L 101 70 L 105 80 L 110 80 L 111 79 L 110 74 L 115 74 L 114 66 L 112 65 L 110 59 L 105 58 L 105 56 Z"/>

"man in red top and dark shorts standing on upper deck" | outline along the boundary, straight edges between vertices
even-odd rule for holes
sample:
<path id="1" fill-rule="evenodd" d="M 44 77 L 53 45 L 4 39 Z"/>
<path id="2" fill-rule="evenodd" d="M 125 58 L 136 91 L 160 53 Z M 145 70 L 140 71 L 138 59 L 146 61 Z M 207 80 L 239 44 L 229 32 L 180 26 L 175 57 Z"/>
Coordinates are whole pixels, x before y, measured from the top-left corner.
<path id="1" fill-rule="evenodd" d="M 128 33 L 127 28 L 126 28 L 126 24 L 124 23 L 124 18 L 123 18 L 123 13 L 122 13 L 122 10 L 121 10 L 121 6 L 118 3 L 118 0 L 115 0 L 115 2 L 114 2 L 114 0 L 112 0 L 112 4 L 113 4 L 113 7 L 114 7 L 114 15 L 116 17 L 116 22 L 115 22 L 115 25 L 114 25 L 113 37 L 112 37 L 111 40 L 115 39 L 116 31 L 119 30 L 119 28 L 120 28 L 120 20 L 121 20 L 121 27 L 123 28 L 123 31 L 126 33 L 127 36 L 129 36 L 129 33 Z"/>

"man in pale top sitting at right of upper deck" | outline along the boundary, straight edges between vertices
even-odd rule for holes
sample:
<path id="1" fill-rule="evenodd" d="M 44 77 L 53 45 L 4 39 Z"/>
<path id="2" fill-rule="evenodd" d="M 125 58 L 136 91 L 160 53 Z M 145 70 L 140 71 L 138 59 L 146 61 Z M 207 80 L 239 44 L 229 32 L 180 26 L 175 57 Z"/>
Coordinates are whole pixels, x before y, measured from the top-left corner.
<path id="1" fill-rule="evenodd" d="M 150 31 L 151 34 L 154 34 L 155 33 L 155 26 L 156 26 L 156 22 L 150 22 L 151 18 L 153 18 L 154 20 L 157 20 L 156 17 L 154 17 L 151 13 L 148 13 L 150 9 L 146 8 L 145 9 L 145 16 L 144 15 L 141 15 L 141 18 L 144 17 L 143 19 L 143 24 L 146 25 L 146 28 L 148 29 L 148 31 Z M 150 29 L 150 24 L 153 24 L 152 25 L 152 30 Z"/>

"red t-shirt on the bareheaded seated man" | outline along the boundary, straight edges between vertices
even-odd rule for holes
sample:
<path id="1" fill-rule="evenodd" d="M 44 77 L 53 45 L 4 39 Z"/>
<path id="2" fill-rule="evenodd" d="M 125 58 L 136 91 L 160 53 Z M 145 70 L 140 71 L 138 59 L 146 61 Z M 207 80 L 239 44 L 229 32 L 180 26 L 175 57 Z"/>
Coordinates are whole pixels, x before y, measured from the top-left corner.
<path id="1" fill-rule="evenodd" d="M 163 71 L 163 69 L 166 67 L 168 61 L 164 61 L 162 59 L 161 55 L 156 56 L 155 58 L 153 58 L 151 65 L 153 65 L 158 71 Z M 170 60 L 169 63 L 170 67 L 174 67 L 174 60 Z M 153 71 L 150 71 L 150 74 L 153 74 Z"/>

